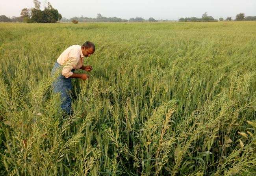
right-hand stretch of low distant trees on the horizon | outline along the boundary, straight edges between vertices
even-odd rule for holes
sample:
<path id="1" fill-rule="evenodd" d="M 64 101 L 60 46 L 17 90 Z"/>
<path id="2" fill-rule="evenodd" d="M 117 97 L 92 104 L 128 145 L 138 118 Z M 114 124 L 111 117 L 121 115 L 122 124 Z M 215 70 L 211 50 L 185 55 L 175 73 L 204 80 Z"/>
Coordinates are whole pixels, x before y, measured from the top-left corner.
<path id="1" fill-rule="evenodd" d="M 219 18 L 219 21 L 223 21 L 224 19 L 221 17 Z M 236 15 L 236 19 L 234 21 L 255 21 L 255 17 L 245 17 L 245 13 L 239 13 Z M 181 22 L 187 22 L 187 21 L 193 21 L 193 22 L 200 22 L 200 21 L 218 21 L 217 19 L 214 19 L 212 16 L 208 16 L 207 12 L 205 12 L 202 15 L 202 18 L 197 17 L 186 17 L 186 18 L 180 18 L 179 21 Z M 232 17 L 227 17 L 226 21 L 232 21 Z"/>

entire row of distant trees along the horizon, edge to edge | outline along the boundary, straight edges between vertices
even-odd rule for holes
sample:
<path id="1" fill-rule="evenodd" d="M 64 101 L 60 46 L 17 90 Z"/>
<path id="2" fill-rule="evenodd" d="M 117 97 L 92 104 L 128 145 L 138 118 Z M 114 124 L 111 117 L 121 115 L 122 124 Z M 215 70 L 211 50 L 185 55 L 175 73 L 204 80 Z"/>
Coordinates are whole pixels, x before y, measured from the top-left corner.
<path id="1" fill-rule="evenodd" d="M 35 5 L 34 8 L 24 8 L 20 13 L 20 17 L 6 17 L 5 15 L 0 15 L 0 22 L 41 22 L 41 23 L 55 23 L 58 20 L 61 22 L 157 22 L 154 18 L 150 17 L 148 20 L 145 20 L 141 17 L 130 18 L 129 20 L 121 19 L 118 17 L 103 17 L 100 13 L 97 14 L 96 18 L 89 17 L 72 17 L 70 19 L 62 18 L 61 14 L 57 9 L 54 9 L 50 2 L 45 3 L 44 10 L 42 11 L 41 2 L 38 0 L 33 0 Z M 219 21 L 223 21 L 224 19 L 221 17 Z M 234 21 L 255 21 L 256 16 L 248 16 L 245 17 L 245 13 L 239 13 L 236 15 L 236 19 Z M 173 20 L 160 20 L 160 21 L 173 21 Z M 180 18 L 180 22 L 203 22 L 203 21 L 218 21 L 214 19 L 212 16 L 208 16 L 207 12 L 202 15 L 202 18 L 197 17 L 186 17 Z M 232 17 L 227 17 L 226 21 L 232 21 Z"/>

